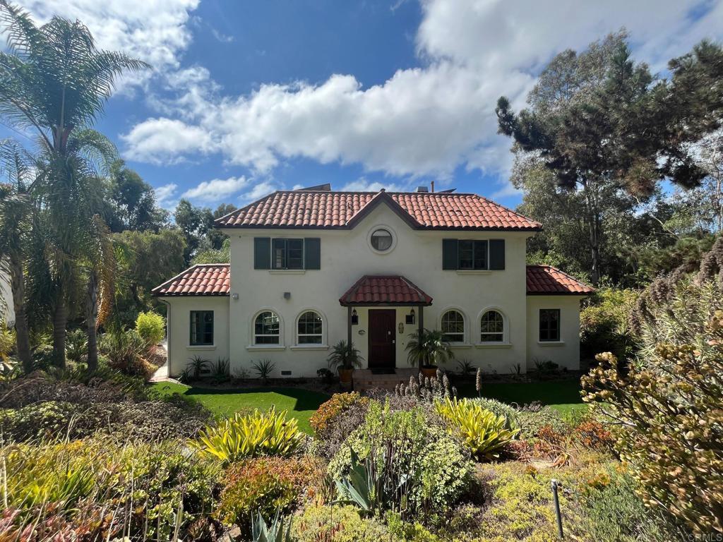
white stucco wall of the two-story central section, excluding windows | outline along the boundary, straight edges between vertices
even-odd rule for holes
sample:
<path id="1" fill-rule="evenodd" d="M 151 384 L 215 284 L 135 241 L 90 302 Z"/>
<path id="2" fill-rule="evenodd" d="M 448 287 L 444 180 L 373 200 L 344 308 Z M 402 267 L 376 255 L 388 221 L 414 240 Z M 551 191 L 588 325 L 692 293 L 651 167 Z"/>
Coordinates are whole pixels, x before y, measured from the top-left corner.
<path id="1" fill-rule="evenodd" d="M 372 229 L 382 225 L 395 234 L 395 246 L 388 253 L 377 254 L 369 248 L 368 236 Z M 432 306 L 424 308 L 427 328 L 439 328 L 446 309 L 461 311 L 465 317 L 466 340 L 464 345 L 455 346 L 458 358 L 469 359 L 485 371 L 508 373 L 518 363 L 523 371 L 526 369 L 525 243 L 529 233 L 415 231 L 387 205 L 377 207 L 353 230 L 228 229 L 225 233 L 231 237 L 231 293 L 239 294 L 237 300 L 225 298 L 230 303 L 232 370 L 249 369 L 252 361 L 269 358 L 275 363 L 275 376 L 281 376 L 282 370 L 291 371 L 291 377 L 316 376 L 317 369 L 326 366 L 328 346 L 346 339 L 347 309 L 338 300 L 362 275 L 403 275 L 432 296 Z M 254 270 L 253 239 L 258 236 L 320 237 L 321 270 Z M 443 238 L 504 238 L 505 270 L 442 270 Z M 285 299 L 284 292 L 290 293 L 290 298 Z M 506 335 L 502 345 L 479 344 L 479 317 L 488 308 L 495 308 L 505 316 Z M 281 317 L 282 344 L 278 347 L 252 345 L 252 322 L 263 309 L 271 309 Z M 295 345 L 296 318 L 307 309 L 317 310 L 325 320 L 322 347 Z M 397 322 L 404 321 L 408 310 L 397 310 Z M 367 358 L 367 335 L 359 335 L 360 330 L 368 332 L 367 309 L 358 308 L 357 312 L 359 325 L 354 326 L 352 340 Z M 175 311 L 173 317 L 176 318 Z M 187 318 L 184 325 L 188 325 Z M 412 331 L 408 327 L 403 335 L 397 335 L 398 367 L 407 366 L 404 348 Z M 187 334 L 181 330 L 183 340 L 187 341 Z"/>

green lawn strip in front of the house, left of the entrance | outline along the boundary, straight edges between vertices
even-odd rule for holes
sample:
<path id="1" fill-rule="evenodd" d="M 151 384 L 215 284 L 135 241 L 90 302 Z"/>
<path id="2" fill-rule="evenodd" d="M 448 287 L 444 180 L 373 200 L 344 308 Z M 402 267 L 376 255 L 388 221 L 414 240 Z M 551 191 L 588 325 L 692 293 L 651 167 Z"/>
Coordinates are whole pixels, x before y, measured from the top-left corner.
<path id="1" fill-rule="evenodd" d="M 173 382 L 156 382 L 153 388 L 161 395 L 178 393 L 197 400 L 218 416 L 231 416 L 239 410 L 258 408 L 269 410 L 288 410 L 293 418 L 299 420 L 299 429 L 312 434 L 309 418 L 319 405 L 329 396 L 320 392 L 310 392 L 289 387 L 254 387 L 221 390 L 218 388 L 190 387 Z"/>

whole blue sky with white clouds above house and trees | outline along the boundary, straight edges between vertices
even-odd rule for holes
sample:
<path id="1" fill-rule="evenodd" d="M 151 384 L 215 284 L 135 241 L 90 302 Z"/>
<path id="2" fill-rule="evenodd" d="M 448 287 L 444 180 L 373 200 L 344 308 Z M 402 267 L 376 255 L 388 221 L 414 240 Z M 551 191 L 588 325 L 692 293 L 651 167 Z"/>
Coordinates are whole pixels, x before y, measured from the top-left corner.
<path id="1" fill-rule="evenodd" d="M 515 206 L 495 102 L 523 105 L 555 53 L 625 26 L 664 70 L 723 38 L 723 1 L 23 0 L 78 18 L 153 69 L 120 82 L 98 129 L 165 207 L 274 189 L 434 180 Z"/>

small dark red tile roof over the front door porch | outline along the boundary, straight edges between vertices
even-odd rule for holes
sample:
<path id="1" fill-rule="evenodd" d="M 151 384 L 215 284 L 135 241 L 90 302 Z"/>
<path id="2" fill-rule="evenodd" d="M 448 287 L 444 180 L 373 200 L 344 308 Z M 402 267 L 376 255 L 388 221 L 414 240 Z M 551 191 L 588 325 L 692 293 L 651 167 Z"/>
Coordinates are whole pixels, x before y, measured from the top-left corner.
<path id="1" fill-rule="evenodd" d="M 339 303 L 342 305 L 431 305 L 432 298 L 399 275 L 364 275 L 339 298 Z"/>

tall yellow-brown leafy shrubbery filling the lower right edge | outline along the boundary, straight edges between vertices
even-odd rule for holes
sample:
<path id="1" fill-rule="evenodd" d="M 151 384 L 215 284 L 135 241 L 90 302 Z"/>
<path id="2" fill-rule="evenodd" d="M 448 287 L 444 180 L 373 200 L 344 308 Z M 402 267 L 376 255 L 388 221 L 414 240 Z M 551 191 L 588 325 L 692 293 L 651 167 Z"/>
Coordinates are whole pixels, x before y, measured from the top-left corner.
<path id="1" fill-rule="evenodd" d="M 696 280 L 674 274 L 641 295 L 629 374 L 604 353 L 583 377 L 584 400 L 619 423 L 615 449 L 644 502 L 698 535 L 723 531 L 723 238 L 711 254 Z"/>

